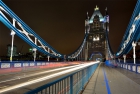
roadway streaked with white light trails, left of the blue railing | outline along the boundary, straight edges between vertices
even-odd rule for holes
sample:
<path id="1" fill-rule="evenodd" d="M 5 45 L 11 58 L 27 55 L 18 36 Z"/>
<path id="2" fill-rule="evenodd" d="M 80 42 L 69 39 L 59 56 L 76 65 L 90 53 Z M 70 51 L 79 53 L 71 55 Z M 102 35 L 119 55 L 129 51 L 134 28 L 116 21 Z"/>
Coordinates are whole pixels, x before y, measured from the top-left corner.
<path id="1" fill-rule="evenodd" d="M 23 94 L 27 91 L 30 91 L 34 88 L 42 86 L 46 83 L 54 81 L 61 76 L 54 77 L 52 79 L 41 80 L 38 82 L 33 82 L 33 80 L 37 80 L 40 78 L 51 76 L 54 73 L 59 73 L 67 69 L 72 69 L 75 67 L 81 66 L 67 66 L 61 68 L 54 69 L 38 69 L 38 70 L 29 70 L 29 71 L 21 71 L 12 74 L 1 74 L 0 75 L 0 94 Z M 66 74 L 65 74 L 66 75 Z M 25 84 L 26 83 L 26 84 Z"/>

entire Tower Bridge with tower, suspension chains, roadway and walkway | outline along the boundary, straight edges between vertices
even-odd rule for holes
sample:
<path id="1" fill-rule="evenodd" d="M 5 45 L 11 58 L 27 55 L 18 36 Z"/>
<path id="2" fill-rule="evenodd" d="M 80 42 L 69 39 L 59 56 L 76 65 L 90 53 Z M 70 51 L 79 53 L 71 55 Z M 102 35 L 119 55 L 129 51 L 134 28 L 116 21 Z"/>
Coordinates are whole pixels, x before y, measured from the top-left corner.
<path id="1" fill-rule="evenodd" d="M 85 20 L 85 36 L 73 53 L 63 55 L 25 24 L 2 0 L 0 21 L 34 50 L 34 61 L 0 61 L 1 94 L 140 94 L 140 65 L 135 47 L 140 38 L 140 0 L 116 54 L 108 38 L 109 15 L 103 16 L 96 6 Z M 18 25 L 18 26 L 17 26 Z M 19 29 L 20 27 L 20 29 Z M 126 54 L 133 48 L 133 61 Z M 36 61 L 36 51 L 48 55 L 48 61 Z M 120 57 L 123 56 L 123 60 Z M 49 62 L 49 58 L 64 62 Z M 84 60 L 83 60 L 84 59 Z M 103 59 L 106 59 L 103 62 Z M 75 60 L 75 61 L 73 61 Z M 102 61 L 101 61 L 102 60 Z"/>

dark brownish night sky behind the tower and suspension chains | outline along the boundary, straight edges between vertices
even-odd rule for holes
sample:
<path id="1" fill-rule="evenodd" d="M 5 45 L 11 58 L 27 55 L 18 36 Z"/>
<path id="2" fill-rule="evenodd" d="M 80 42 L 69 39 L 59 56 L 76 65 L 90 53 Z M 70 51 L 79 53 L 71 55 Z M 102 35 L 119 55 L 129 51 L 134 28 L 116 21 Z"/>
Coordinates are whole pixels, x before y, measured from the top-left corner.
<path id="1" fill-rule="evenodd" d="M 84 38 L 85 19 L 92 16 L 96 5 L 102 15 L 108 8 L 110 16 L 109 39 L 116 52 L 127 28 L 137 0 L 2 0 L 40 37 L 62 54 L 77 49 Z M 6 55 L 11 44 L 10 30 L 0 23 L 0 55 Z M 18 36 L 17 50 L 28 52 L 30 46 Z"/>

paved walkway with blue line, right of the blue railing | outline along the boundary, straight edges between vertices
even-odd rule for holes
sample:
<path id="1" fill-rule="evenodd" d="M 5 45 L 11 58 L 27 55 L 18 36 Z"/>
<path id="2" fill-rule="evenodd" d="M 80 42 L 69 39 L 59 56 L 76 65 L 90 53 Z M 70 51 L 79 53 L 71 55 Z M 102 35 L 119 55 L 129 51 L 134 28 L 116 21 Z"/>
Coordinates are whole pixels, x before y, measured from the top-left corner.
<path id="1" fill-rule="evenodd" d="M 140 94 L 140 74 L 100 65 L 82 94 Z"/>

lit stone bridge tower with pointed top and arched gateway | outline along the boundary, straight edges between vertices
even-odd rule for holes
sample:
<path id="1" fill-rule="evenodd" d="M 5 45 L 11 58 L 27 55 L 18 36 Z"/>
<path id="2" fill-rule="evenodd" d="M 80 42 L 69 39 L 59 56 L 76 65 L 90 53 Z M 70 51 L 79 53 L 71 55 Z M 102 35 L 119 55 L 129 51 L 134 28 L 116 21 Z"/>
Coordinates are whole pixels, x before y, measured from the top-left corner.
<path id="1" fill-rule="evenodd" d="M 96 6 L 94 12 L 89 19 L 90 31 L 88 37 L 86 39 L 86 53 L 85 55 L 89 60 L 92 55 L 92 60 L 96 60 L 96 58 L 105 59 L 108 57 L 107 55 L 107 41 L 106 41 L 106 30 L 109 32 L 109 16 L 102 16 L 99 11 L 99 7 Z M 96 54 L 97 53 L 97 54 Z M 98 53 L 101 53 L 99 55 Z"/>

